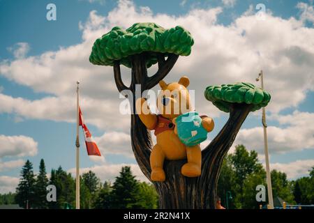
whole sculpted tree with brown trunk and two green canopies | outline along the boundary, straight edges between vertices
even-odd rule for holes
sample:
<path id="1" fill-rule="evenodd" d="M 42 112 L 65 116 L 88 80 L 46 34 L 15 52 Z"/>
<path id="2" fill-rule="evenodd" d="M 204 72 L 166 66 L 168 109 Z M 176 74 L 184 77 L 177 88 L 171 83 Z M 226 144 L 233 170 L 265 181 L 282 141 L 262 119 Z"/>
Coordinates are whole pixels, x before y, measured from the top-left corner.
<path id="1" fill-rule="evenodd" d="M 150 179 L 149 156 L 153 143 L 151 134 L 135 114 L 135 85 L 141 84 L 141 93 L 151 89 L 172 69 L 179 55 L 188 56 L 193 38 L 181 26 L 163 29 L 154 23 L 137 23 L 124 30 L 114 27 L 98 38 L 89 61 L 96 65 L 113 66 L 114 80 L 119 92 L 130 90 L 133 98 L 131 114 L 131 142 L 135 159 L 140 169 Z M 158 63 L 155 75 L 147 75 L 147 68 Z M 120 65 L 131 68 L 130 86 L 121 79 Z M 209 86 L 205 97 L 230 118 L 223 130 L 202 151 L 202 175 L 187 178 L 181 174 L 186 160 L 165 161 L 164 182 L 153 182 L 160 199 L 160 208 L 215 208 L 216 185 L 223 157 L 229 150 L 244 119 L 250 111 L 266 106 L 270 96 L 251 84 Z"/>

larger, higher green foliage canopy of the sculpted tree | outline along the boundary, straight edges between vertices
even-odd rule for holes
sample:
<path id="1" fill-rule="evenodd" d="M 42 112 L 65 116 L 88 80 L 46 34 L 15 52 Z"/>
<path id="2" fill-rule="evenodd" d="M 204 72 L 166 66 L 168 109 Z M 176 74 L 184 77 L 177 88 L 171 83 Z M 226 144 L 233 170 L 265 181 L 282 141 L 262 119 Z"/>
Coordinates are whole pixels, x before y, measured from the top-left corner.
<path id="1" fill-rule="evenodd" d="M 151 22 L 135 23 L 126 30 L 115 26 L 95 41 L 89 61 L 95 65 L 113 66 L 114 61 L 119 60 L 131 68 L 130 56 L 148 52 L 146 63 L 149 68 L 158 61 L 156 53 L 188 56 L 193 43 L 190 33 L 181 26 L 164 29 Z"/>

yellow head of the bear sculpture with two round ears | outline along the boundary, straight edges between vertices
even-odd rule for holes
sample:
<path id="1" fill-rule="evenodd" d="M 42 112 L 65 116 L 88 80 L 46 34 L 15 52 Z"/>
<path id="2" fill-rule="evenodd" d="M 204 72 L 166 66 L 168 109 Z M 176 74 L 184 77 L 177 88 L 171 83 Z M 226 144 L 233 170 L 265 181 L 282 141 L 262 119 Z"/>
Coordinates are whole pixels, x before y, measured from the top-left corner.
<path id="1" fill-rule="evenodd" d="M 159 82 L 161 91 L 157 98 L 157 108 L 161 116 L 172 119 L 192 110 L 190 94 L 186 89 L 188 84 L 188 77 L 181 77 L 179 82 L 170 84 L 163 80 Z"/>

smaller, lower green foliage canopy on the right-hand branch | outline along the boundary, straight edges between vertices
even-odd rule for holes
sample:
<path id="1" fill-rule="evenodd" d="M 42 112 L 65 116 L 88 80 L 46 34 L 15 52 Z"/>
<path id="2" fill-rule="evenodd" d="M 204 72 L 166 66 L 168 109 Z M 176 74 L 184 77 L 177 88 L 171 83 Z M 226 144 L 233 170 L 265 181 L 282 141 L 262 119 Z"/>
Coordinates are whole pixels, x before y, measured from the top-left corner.
<path id="1" fill-rule="evenodd" d="M 271 95 L 253 84 L 240 82 L 237 84 L 222 84 L 208 86 L 204 92 L 205 98 L 223 112 L 230 112 L 232 103 L 253 105 L 251 112 L 268 105 Z"/>

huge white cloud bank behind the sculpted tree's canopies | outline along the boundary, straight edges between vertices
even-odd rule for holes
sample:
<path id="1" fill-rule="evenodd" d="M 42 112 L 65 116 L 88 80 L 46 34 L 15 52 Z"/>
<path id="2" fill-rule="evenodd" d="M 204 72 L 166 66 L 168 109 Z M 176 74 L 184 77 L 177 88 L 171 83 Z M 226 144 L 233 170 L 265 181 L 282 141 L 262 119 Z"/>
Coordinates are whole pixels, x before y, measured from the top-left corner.
<path id="1" fill-rule="evenodd" d="M 126 0 L 119 1 L 117 8 L 105 16 L 91 11 L 87 22 L 80 23 L 82 43 L 0 63 L 3 77 L 34 91 L 52 94 L 40 100 L 0 94 L 3 105 L 0 112 L 14 113 L 20 118 L 74 122 L 75 82 L 79 79 L 87 124 L 115 134 L 122 132 L 120 136 L 129 134 L 130 117 L 119 113 L 121 99 L 114 85 L 112 67 L 91 65 L 89 54 L 94 40 L 113 26 L 126 28 L 139 21 L 154 21 L 165 28 L 182 25 L 192 33 L 195 39 L 192 54 L 181 56 L 165 81 L 176 82 L 182 75 L 188 75 L 189 89 L 197 89 L 195 103 L 200 114 L 221 114 L 204 99 L 206 86 L 238 81 L 254 83 L 261 69 L 264 70 L 265 87 L 272 95 L 267 110 L 276 114 L 287 107 L 297 107 L 305 99 L 306 92 L 314 90 L 314 29 L 304 27 L 303 22 L 294 17 L 286 20 L 266 14 L 265 20 L 260 21 L 248 13 L 223 26 L 217 24 L 217 16 L 222 11 L 222 8 L 196 8 L 180 16 L 154 14 L 149 8 L 137 7 Z M 125 81 L 130 80 L 129 69 L 122 68 L 122 74 Z M 286 135 L 288 130 L 289 135 L 292 134 L 290 128 L 269 127 L 274 134 Z M 244 130 L 242 137 L 260 137 L 260 132 L 258 128 Z M 238 138 L 241 139 L 241 132 Z M 276 137 L 273 141 L 278 140 Z M 126 149 L 122 145 L 119 148 Z M 277 148 L 277 144 L 273 146 Z M 300 146 L 297 149 L 301 149 Z M 122 153 L 126 154 L 126 151 Z"/>

